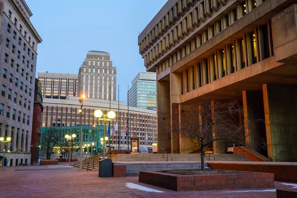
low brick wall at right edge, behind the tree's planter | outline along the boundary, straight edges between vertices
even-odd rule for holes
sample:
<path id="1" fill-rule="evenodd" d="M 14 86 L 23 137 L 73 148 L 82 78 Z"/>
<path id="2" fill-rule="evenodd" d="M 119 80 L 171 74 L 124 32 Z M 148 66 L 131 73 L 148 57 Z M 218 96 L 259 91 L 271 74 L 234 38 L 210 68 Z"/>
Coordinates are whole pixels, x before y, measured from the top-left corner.
<path id="1" fill-rule="evenodd" d="M 269 164 L 208 162 L 208 164 L 212 169 L 273 173 L 275 181 L 297 183 L 297 165 L 276 162 Z"/>

